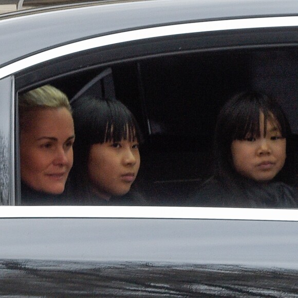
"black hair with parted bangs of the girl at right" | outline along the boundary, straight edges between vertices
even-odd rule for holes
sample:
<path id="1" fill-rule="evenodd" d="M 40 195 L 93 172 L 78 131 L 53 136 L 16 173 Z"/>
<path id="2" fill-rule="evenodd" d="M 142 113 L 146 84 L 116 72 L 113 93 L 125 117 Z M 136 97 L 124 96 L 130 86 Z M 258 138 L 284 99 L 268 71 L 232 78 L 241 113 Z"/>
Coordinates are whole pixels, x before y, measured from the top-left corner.
<path id="1" fill-rule="evenodd" d="M 244 140 L 247 136 L 259 137 L 261 114 L 264 115 L 265 135 L 267 123 L 271 121 L 282 137 L 287 139 L 286 162 L 276 178 L 292 184 L 294 175 L 293 170 L 290 169 L 290 160 L 293 152 L 289 142 L 291 137 L 289 122 L 281 106 L 274 99 L 256 91 L 246 91 L 235 95 L 220 110 L 214 135 L 215 177 L 235 180 L 238 176 L 233 165 L 232 141 Z"/>

